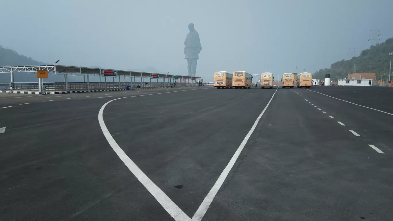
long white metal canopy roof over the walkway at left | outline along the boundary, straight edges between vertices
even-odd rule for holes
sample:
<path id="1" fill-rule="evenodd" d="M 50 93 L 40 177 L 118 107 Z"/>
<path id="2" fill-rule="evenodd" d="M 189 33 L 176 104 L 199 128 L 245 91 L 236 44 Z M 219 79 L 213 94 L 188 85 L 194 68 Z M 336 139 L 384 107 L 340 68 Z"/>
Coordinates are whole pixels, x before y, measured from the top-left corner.
<path id="1" fill-rule="evenodd" d="M 79 75 L 90 75 L 90 76 L 103 76 L 103 70 L 114 70 L 105 68 L 88 68 L 79 66 L 68 66 L 68 65 L 31 65 L 31 66 L 7 66 L 0 67 L 0 74 L 2 73 L 21 73 L 21 72 L 36 72 L 38 70 L 47 70 L 50 74 L 79 74 Z M 160 78 L 171 78 L 173 74 L 160 74 L 160 73 L 148 73 L 148 72 L 136 72 L 127 70 L 114 70 L 117 72 L 117 76 L 130 76 L 130 77 L 151 77 L 152 74 L 159 74 Z M 108 76 L 107 76 L 108 77 Z M 179 79 L 191 80 L 191 76 L 178 75 Z M 195 77 L 199 79 L 200 77 Z"/>

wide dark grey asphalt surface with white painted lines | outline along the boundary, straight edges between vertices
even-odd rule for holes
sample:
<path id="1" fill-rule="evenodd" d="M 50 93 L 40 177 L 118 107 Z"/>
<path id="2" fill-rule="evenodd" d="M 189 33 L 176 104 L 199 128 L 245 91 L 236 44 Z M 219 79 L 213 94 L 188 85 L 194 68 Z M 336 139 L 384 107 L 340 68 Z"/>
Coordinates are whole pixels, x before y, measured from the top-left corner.
<path id="1" fill-rule="evenodd" d="M 392 89 L 0 94 L 0 220 L 391 220 Z"/>

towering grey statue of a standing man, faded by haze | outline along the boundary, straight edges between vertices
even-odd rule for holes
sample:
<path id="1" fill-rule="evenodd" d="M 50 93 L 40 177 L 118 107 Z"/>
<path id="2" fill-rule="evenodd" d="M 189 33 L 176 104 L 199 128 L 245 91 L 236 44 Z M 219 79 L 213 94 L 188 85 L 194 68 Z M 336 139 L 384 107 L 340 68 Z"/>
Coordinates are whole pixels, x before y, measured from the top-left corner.
<path id="1" fill-rule="evenodd" d="M 188 29 L 190 30 L 190 32 L 187 34 L 187 37 L 185 37 L 184 54 L 185 59 L 187 59 L 188 75 L 195 76 L 196 63 L 199 59 L 198 54 L 202 50 L 202 46 L 200 45 L 199 34 L 194 29 L 194 24 L 190 23 L 188 25 Z"/>

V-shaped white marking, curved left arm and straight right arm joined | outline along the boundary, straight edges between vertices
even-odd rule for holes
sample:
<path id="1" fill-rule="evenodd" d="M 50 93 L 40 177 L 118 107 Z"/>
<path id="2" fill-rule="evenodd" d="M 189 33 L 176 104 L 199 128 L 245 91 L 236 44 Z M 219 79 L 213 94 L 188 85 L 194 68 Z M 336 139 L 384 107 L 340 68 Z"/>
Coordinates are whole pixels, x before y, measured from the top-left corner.
<path id="1" fill-rule="evenodd" d="M 277 87 L 278 89 L 278 87 Z M 228 165 L 225 167 L 225 169 L 222 171 L 222 173 L 219 176 L 219 179 L 215 182 L 211 190 L 209 191 L 208 195 L 206 195 L 205 199 L 202 201 L 202 204 L 200 204 L 198 210 L 196 210 L 194 216 L 192 219 L 185 214 L 185 212 L 179 208 L 173 201 L 160 189 L 154 182 L 147 177 L 143 171 L 136 166 L 136 164 L 127 156 L 127 154 L 121 149 L 121 147 L 118 145 L 118 143 L 113 139 L 112 135 L 110 135 L 107 126 L 105 125 L 104 119 L 103 119 L 103 112 L 105 107 L 108 105 L 108 103 L 118 100 L 118 99 L 123 99 L 123 98 L 134 98 L 134 97 L 141 97 L 141 96 L 150 96 L 150 95 L 155 95 L 155 94 L 145 94 L 145 95 L 139 95 L 139 96 L 130 96 L 130 97 L 123 97 L 123 98 L 117 98 L 108 101 L 105 103 L 101 109 L 98 112 L 98 122 L 101 127 L 102 132 L 105 135 L 105 138 L 107 138 L 109 145 L 112 147 L 112 149 L 116 152 L 116 154 L 119 156 L 121 161 L 129 168 L 129 170 L 135 175 L 135 177 L 141 182 L 143 186 L 151 193 L 151 195 L 156 198 L 158 203 L 161 204 L 161 206 L 168 212 L 169 215 L 173 217 L 174 220 L 176 221 L 200 221 L 203 216 L 205 215 L 206 211 L 208 210 L 211 202 L 213 201 L 215 195 L 219 191 L 220 187 L 222 186 L 222 183 L 228 176 L 228 173 L 232 169 L 233 165 L 235 164 L 237 158 L 239 157 L 241 151 L 243 150 L 244 146 L 246 145 L 248 139 L 250 138 L 251 134 L 255 130 L 255 127 L 257 127 L 257 124 L 259 120 L 261 119 L 262 115 L 268 108 L 270 102 L 272 101 L 275 93 L 277 92 L 277 89 L 275 90 L 274 94 L 272 95 L 272 98 L 270 98 L 270 101 L 267 103 L 266 107 L 263 109 L 261 114 L 259 114 L 257 120 L 255 120 L 254 124 L 252 125 L 250 131 L 244 138 L 243 142 L 240 144 L 240 146 L 237 148 L 235 154 L 229 161 Z M 200 90 L 200 89 L 193 89 L 193 90 Z M 187 91 L 187 90 L 181 90 L 181 91 Z M 164 93 L 156 93 L 156 94 L 167 94 L 167 93 L 174 93 L 174 92 L 180 92 L 180 91 L 172 91 L 172 92 L 164 92 Z"/>

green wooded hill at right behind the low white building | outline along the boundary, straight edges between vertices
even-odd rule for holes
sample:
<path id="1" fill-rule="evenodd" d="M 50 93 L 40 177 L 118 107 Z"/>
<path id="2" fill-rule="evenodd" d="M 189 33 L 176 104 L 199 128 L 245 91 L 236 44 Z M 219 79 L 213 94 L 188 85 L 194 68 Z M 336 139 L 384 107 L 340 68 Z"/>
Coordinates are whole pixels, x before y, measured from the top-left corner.
<path id="1" fill-rule="evenodd" d="M 332 81 L 347 77 L 353 73 L 353 65 L 356 63 L 357 73 L 376 73 L 376 75 L 389 72 L 390 56 L 393 52 L 393 38 L 387 39 L 381 44 L 371 46 L 370 49 L 363 50 L 357 57 L 350 60 L 342 60 L 333 63 L 330 68 L 320 69 L 315 72 L 314 78 L 324 79 L 325 74 L 331 74 Z"/>

